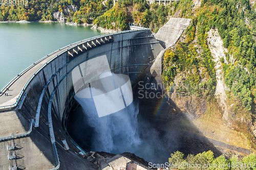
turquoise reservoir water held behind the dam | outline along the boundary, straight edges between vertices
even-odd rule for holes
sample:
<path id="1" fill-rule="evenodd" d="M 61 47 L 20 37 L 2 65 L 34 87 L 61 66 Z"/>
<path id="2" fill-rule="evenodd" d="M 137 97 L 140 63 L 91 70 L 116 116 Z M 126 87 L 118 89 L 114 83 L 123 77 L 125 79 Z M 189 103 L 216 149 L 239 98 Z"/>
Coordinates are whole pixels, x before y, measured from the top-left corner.
<path id="1" fill-rule="evenodd" d="M 102 34 L 90 28 L 65 23 L 0 23 L 0 89 L 47 54 Z"/>

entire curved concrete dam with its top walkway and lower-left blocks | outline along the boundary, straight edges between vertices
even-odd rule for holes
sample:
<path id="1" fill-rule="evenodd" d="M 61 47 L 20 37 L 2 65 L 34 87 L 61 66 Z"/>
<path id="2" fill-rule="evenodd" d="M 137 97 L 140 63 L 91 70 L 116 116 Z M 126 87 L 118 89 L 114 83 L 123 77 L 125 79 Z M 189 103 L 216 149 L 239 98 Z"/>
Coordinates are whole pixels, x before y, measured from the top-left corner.
<path id="1" fill-rule="evenodd" d="M 162 50 L 150 29 L 123 31 L 60 48 L 18 74 L 1 90 L 0 169 L 97 169 L 66 132 L 67 115 L 78 105 L 72 70 L 106 55 L 111 72 L 128 75 L 135 87 L 154 61 L 161 70 Z"/>

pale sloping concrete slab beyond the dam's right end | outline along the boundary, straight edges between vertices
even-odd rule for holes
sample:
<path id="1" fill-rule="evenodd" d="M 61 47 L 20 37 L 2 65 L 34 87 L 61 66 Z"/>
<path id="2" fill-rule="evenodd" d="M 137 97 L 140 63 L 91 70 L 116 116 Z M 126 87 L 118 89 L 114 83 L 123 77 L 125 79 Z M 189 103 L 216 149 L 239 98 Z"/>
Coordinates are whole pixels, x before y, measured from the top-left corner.
<path id="1" fill-rule="evenodd" d="M 186 18 L 170 18 L 163 27 L 156 33 L 155 37 L 160 41 L 160 44 L 165 48 L 173 44 L 180 31 L 184 31 L 189 25 L 191 19 Z"/>

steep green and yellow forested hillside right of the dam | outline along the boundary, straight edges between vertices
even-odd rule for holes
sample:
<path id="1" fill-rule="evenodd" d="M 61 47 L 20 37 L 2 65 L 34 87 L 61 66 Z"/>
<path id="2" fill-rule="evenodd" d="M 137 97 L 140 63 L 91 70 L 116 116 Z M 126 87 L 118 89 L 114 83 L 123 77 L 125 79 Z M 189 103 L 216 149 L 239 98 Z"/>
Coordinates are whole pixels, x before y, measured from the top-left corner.
<path id="1" fill-rule="evenodd" d="M 224 124 L 246 135 L 255 151 L 255 6 L 247 0 L 208 0 L 195 8 L 193 1 L 181 0 L 173 9 L 176 15 L 191 18 L 192 22 L 176 46 L 164 55 L 165 85 L 179 95 L 193 94 L 216 105 L 217 70 L 207 41 L 212 38 L 210 30 L 216 30 L 226 48 L 220 59 L 225 83 L 222 92 L 228 107 Z"/>

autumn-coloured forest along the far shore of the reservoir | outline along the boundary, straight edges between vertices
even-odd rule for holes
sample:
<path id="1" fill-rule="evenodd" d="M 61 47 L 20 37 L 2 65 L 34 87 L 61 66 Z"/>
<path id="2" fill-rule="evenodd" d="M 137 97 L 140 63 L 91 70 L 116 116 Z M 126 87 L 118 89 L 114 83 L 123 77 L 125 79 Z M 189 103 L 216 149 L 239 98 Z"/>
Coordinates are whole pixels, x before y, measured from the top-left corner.
<path id="1" fill-rule="evenodd" d="M 127 30 L 129 22 L 135 22 L 140 26 L 151 28 L 157 32 L 164 25 L 168 16 L 173 14 L 172 7 L 152 4 L 145 0 L 125 0 L 118 1 L 113 7 L 112 0 L 57 0 L 29 1 L 27 4 L 20 3 L 23 0 L 16 0 L 15 4 L 9 5 L 2 1 L 0 7 L 0 21 L 7 20 L 27 20 L 27 21 L 47 21 L 56 20 L 54 12 L 62 12 L 64 17 L 77 23 L 96 23 L 97 26 L 108 29 Z M 23 1 L 24 2 L 24 1 Z M 18 5 L 19 4 L 19 5 Z M 77 11 L 67 10 L 72 4 Z M 26 6 L 27 5 L 27 6 Z"/>

